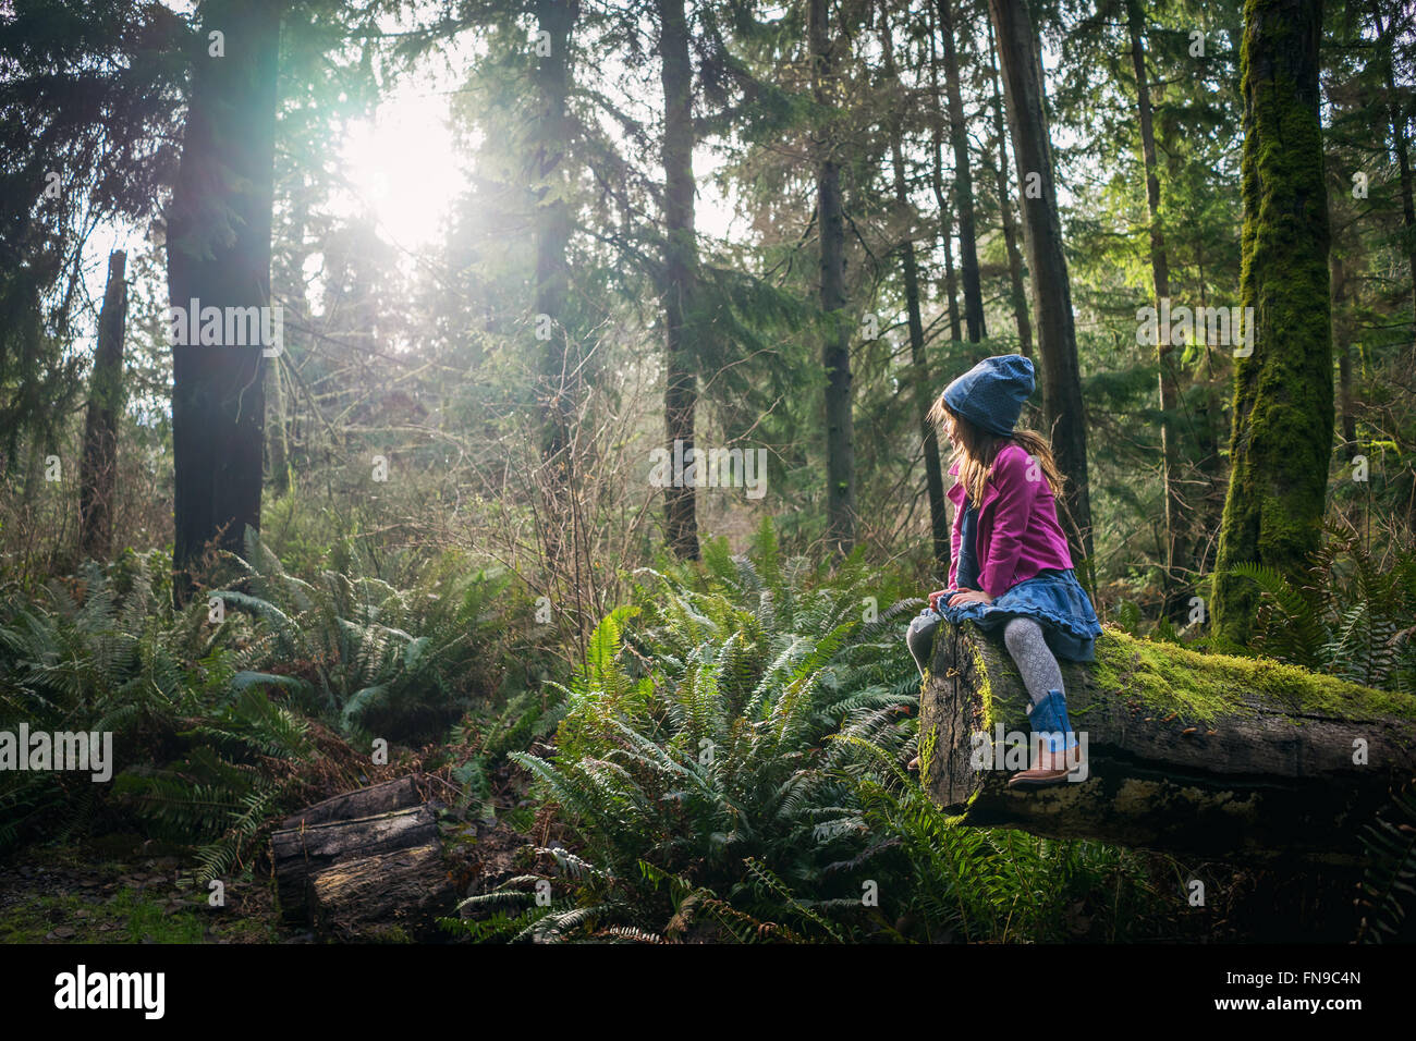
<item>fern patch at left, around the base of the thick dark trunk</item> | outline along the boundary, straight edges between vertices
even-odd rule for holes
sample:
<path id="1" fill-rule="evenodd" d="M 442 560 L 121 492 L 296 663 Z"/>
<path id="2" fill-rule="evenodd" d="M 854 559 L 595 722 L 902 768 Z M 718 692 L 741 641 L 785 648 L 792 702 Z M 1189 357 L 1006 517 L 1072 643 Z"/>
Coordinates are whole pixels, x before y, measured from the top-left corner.
<path id="1" fill-rule="evenodd" d="M 0 729 L 110 732 L 116 765 L 0 773 L 0 848 L 136 817 L 197 847 L 198 881 L 245 867 L 285 812 L 368 783 L 371 735 L 442 736 L 518 639 L 508 579 L 453 558 L 412 589 L 303 582 L 251 534 L 225 567 L 232 588 L 183 608 L 159 552 L 6 599 Z"/>

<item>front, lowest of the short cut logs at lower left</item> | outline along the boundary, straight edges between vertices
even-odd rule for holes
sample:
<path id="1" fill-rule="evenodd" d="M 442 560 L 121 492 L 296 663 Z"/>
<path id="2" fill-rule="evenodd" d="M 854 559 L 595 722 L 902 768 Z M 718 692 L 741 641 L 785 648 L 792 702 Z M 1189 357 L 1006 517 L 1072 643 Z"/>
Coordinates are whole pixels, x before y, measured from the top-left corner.
<path id="1" fill-rule="evenodd" d="M 438 843 L 341 861 L 310 880 L 314 928 L 340 940 L 429 939 L 455 897 Z"/>

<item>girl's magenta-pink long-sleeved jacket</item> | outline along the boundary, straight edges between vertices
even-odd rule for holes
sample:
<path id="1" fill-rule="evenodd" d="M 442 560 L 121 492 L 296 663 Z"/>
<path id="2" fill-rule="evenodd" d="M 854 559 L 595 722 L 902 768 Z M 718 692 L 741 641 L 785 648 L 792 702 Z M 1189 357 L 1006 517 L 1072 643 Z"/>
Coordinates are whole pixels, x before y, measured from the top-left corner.
<path id="1" fill-rule="evenodd" d="M 1034 480 L 1028 480 L 1032 470 Z M 959 476 L 959 463 L 949 467 Z M 964 486 L 957 480 L 949 489 L 954 504 L 953 559 L 949 588 L 959 571 L 960 530 L 964 523 Z M 988 490 L 978 508 L 978 585 L 997 599 L 1018 582 L 1035 578 L 1046 568 L 1068 569 L 1072 554 L 1058 524 L 1056 503 L 1042 476 L 1034 469 L 1032 456 L 1018 445 L 1005 445 L 993 463 Z"/>

